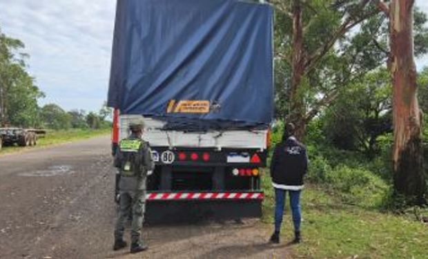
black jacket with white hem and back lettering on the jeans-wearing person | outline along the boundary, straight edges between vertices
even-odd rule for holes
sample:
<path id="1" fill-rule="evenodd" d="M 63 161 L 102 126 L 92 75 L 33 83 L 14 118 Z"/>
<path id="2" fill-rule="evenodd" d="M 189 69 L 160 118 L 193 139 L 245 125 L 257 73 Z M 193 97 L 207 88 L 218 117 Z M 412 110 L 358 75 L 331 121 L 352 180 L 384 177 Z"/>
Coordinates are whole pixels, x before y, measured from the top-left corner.
<path id="1" fill-rule="evenodd" d="M 275 188 L 301 190 L 307 169 L 306 148 L 295 137 L 288 137 L 275 146 L 271 160 L 271 178 Z"/>

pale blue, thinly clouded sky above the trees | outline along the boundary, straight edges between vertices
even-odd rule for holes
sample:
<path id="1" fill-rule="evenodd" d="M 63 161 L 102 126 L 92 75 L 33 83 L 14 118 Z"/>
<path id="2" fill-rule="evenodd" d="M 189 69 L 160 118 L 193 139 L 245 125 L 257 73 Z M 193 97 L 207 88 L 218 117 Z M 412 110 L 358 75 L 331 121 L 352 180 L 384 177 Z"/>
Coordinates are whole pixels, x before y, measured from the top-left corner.
<path id="1" fill-rule="evenodd" d="M 416 0 L 428 13 L 428 1 Z M 97 111 L 106 101 L 115 0 L 0 0 L 0 26 L 26 44 L 28 67 L 46 94 L 40 105 Z M 428 55 L 417 60 L 428 66 Z"/>

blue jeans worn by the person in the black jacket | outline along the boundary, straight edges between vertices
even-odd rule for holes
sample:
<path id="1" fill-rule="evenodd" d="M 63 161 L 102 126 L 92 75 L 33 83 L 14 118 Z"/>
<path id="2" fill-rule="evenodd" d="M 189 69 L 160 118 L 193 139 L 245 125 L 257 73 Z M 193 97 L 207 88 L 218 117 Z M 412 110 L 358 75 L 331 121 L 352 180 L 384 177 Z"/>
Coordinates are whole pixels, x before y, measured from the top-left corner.
<path id="1" fill-rule="evenodd" d="M 280 231 L 282 215 L 284 214 L 284 203 L 286 190 L 275 188 L 275 231 Z M 288 191 L 290 194 L 290 207 L 293 215 L 294 231 L 300 231 L 302 214 L 300 211 L 300 192 Z"/>

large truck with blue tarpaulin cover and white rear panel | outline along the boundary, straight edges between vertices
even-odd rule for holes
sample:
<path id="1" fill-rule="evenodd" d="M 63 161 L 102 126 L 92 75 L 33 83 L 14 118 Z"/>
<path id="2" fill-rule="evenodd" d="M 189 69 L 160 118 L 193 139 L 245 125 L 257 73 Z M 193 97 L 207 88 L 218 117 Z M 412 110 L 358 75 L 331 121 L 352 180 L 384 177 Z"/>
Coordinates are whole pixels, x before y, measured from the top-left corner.
<path id="1" fill-rule="evenodd" d="M 155 161 L 148 220 L 261 215 L 272 38 L 273 8 L 264 1 L 117 1 L 112 146 L 144 120 Z"/>

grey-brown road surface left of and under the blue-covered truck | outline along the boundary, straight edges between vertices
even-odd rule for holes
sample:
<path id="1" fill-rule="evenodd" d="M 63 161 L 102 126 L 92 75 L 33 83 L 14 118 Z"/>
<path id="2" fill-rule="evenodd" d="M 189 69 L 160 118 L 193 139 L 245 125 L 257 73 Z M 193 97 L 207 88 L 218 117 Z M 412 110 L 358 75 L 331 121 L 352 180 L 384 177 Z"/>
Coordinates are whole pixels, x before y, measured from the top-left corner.
<path id="1" fill-rule="evenodd" d="M 258 220 L 149 225 L 148 251 L 113 252 L 113 182 L 108 137 L 0 156 L 0 258 L 289 258 Z"/>

